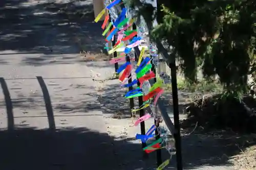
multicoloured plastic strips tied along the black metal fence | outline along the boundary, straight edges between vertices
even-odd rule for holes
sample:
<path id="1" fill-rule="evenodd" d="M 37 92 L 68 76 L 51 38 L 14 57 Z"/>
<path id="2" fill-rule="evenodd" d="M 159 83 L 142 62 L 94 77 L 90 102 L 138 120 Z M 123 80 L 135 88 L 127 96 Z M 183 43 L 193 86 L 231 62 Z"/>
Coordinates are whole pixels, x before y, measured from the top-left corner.
<path id="1" fill-rule="evenodd" d="M 101 17 L 104 15 L 106 10 L 111 9 L 115 5 L 118 5 L 119 3 L 121 3 L 121 0 L 115 0 L 112 3 L 110 3 L 106 7 L 106 9 L 103 9 L 99 13 L 99 15 L 95 18 L 95 22 L 98 22 L 99 19 L 101 19 Z M 109 12 L 111 13 L 111 10 L 109 10 Z M 105 19 L 103 21 L 103 24 L 101 26 L 102 29 L 105 29 L 103 31 L 102 35 L 105 36 L 108 33 L 105 38 L 105 40 L 107 42 L 109 42 L 110 40 L 113 40 L 114 35 L 118 35 L 116 44 L 114 45 L 112 50 L 109 50 L 109 54 L 116 52 L 119 47 L 124 46 L 124 43 L 126 43 L 124 41 L 130 40 L 129 44 L 127 44 L 124 48 L 124 53 L 122 53 L 119 57 L 112 59 L 110 61 L 111 64 L 114 64 L 114 63 L 117 63 L 120 61 L 125 61 L 125 57 L 124 57 L 125 54 L 129 55 L 132 51 L 132 48 L 141 44 L 142 38 L 139 36 L 136 37 L 136 35 L 138 35 L 137 30 L 127 30 L 133 25 L 136 18 L 132 18 L 129 20 L 129 18 L 125 18 L 125 13 L 126 13 L 126 9 L 122 8 L 122 12 L 115 19 L 114 23 L 109 22 L 109 25 L 107 27 L 106 27 L 106 25 L 107 25 L 108 21 L 110 21 L 110 18 L 109 18 L 109 15 L 106 15 Z M 112 30 L 110 30 L 111 26 L 113 26 Z M 141 32 L 141 29 L 138 29 L 138 30 Z M 131 83 L 125 84 L 129 79 L 132 79 L 132 77 L 129 77 L 132 72 L 132 69 L 133 69 L 131 62 L 125 62 L 117 70 L 118 74 L 120 74 L 122 72 L 122 74 L 119 78 L 119 80 L 122 82 L 122 85 L 121 85 L 122 87 L 133 87 L 138 82 L 140 82 L 140 84 L 141 84 L 140 87 L 137 87 L 134 90 L 130 90 L 124 95 L 124 98 L 126 98 L 126 99 L 135 98 L 137 96 L 142 96 L 142 99 L 144 102 L 143 105 L 141 105 L 138 109 L 136 109 L 136 108 L 133 109 L 132 110 L 133 112 L 141 110 L 141 109 L 145 109 L 147 107 L 151 107 L 151 110 L 152 110 L 152 107 L 154 107 L 156 105 L 161 94 L 164 92 L 164 90 L 161 88 L 163 86 L 163 81 L 157 81 L 152 87 L 150 85 L 149 86 L 147 85 L 147 84 L 149 84 L 148 80 L 156 77 L 154 72 L 150 71 L 152 68 L 152 64 L 150 63 L 150 61 L 152 60 L 152 63 L 154 65 L 156 65 L 156 63 L 158 63 L 158 61 L 156 58 L 157 57 L 156 50 L 154 50 L 152 44 L 150 45 L 150 54 L 153 57 L 152 58 L 145 57 L 143 59 L 144 52 L 145 52 L 145 48 L 143 47 L 142 51 L 140 53 L 140 56 L 139 56 L 138 63 L 137 63 L 137 69 L 135 70 L 137 79 L 133 80 Z M 156 56 L 156 57 L 154 57 L 154 56 Z M 132 61 L 132 59 L 131 59 L 131 61 Z M 143 89 L 143 91 L 142 91 L 142 89 Z M 155 98 L 153 101 L 152 99 L 154 96 L 155 96 Z M 152 103 L 151 103 L 152 101 L 153 101 L 154 105 L 152 105 Z M 152 114 L 154 115 L 155 118 L 157 118 L 156 116 L 158 116 L 158 115 L 156 115 L 156 113 L 152 113 Z M 151 114 L 147 113 L 147 114 L 141 116 L 139 119 L 137 119 L 134 125 L 137 126 L 141 122 L 149 119 L 150 117 L 151 117 Z M 155 130 L 156 130 L 156 126 L 152 125 L 152 127 L 150 129 L 148 129 L 148 131 L 146 132 L 145 135 L 137 134 L 136 139 L 140 139 L 142 142 L 145 143 L 148 141 L 148 139 L 154 137 L 153 133 L 155 132 Z M 162 135 L 163 133 L 161 132 L 160 134 Z M 160 139 L 149 144 L 147 147 L 143 148 L 143 150 L 146 153 L 151 153 L 156 150 L 162 149 L 162 148 L 164 148 L 162 146 L 164 141 L 165 141 L 165 139 L 163 137 L 161 137 Z M 167 145 L 165 145 L 165 147 L 166 146 Z M 169 164 L 169 159 L 164 161 L 160 166 L 158 166 L 157 170 L 162 170 L 168 164 Z"/>

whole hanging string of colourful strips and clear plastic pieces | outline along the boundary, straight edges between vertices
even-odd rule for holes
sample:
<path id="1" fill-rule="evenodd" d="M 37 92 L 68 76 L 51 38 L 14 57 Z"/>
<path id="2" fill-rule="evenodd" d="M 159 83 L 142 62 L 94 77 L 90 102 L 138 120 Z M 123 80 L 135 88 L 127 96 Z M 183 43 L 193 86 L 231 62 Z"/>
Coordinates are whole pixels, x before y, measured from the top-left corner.
<path id="1" fill-rule="evenodd" d="M 102 36 L 105 36 L 105 41 L 113 41 L 114 35 L 117 35 L 116 44 L 113 46 L 111 50 L 108 51 L 109 54 L 114 53 L 117 51 L 118 48 L 124 47 L 124 52 L 121 53 L 118 57 L 113 58 L 110 63 L 114 64 L 116 62 L 125 61 L 125 56 L 131 57 L 131 62 L 126 61 L 122 64 L 117 73 L 120 75 L 119 80 L 121 82 L 122 87 L 131 87 L 137 85 L 140 82 L 140 87 L 136 87 L 134 90 L 128 91 L 124 98 L 136 98 L 138 96 L 142 96 L 143 105 L 138 108 L 132 109 L 132 112 L 136 112 L 140 109 L 145 109 L 147 107 L 150 108 L 151 113 L 146 111 L 146 114 L 139 117 L 134 126 L 138 126 L 141 122 L 146 121 L 147 119 L 151 118 L 152 116 L 155 118 L 156 122 L 162 122 L 161 115 L 155 113 L 156 104 L 158 99 L 160 98 L 161 94 L 164 92 L 163 86 L 165 83 L 168 83 L 166 74 L 161 73 L 159 75 L 160 79 L 157 80 L 152 86 L 148 80 L 156 78 L 156 74 L 153 71 L 150 71 L 152 68 L 152 63 L 156 66 L 159 64 L 159 57 L 157 54 L 157 48 L 154 44 L 148 43 L 149 41 L 146 40 L 145 32 L 147 29 L 143 23 L 137 27 L 137 30 L 131 30 L 130 28 L 133 26 L 136 18 L 131 15 L 132 11 L 129 11 L 128 8 L 122 8 L 121 13 L 118 15 L 117 10 L 115 7 L 121 3 L 121 0 L 115 0 L 110 2 L 106 0 L 104 2 L 105 9 L 103 9 L 98 16 L 95 18 L 95 22 L 98 22 L 99 19 L 106 13 L 103 24 L 101 26 L 103 33 Z M 108 25 L 108 26 L 107 26 Z M 111 29 L 112 27 L 112 29 Z M 108 34 L 107 34 L 108 33 Z M 137 35 L 137 36 L 136 36 Z M 140 56 L 138 58 L 138 62 L 135 66 L 135 74 L 137 79 L 134 79 L 131 83 L 127 83 L 129 79 L 129 75 L 133 71 L 133 63 L 134 60 L 134 52 L 132 48 L 139 46 L 142 43 L 142 39 L 145 40 L 147 43 L 148 49 L 150 51 L 150 57 L 144 57 L 145 48 L 142 48 Z M 142 60 L 143 59 L 143 60 Z M 132 78 L 132 76 L 130 77 Z M 160 138 L 153 141 L 152 139 L 155 138 L 156 135 L 154 134 L 155 130 L 160 135 Z M 175 141 L 172 138 L 172 134 L 168 132 L 163 126 L 156 127 L 156 125 L 152 125 L 150 129 L 147 130 L 145 135 L 136 134 L 136 139 L 141 140 L 142 142 L 148 142 L 147 147 L 143 148 L 146 153 L 152 153 L 159 149 L 166 149 L 170 154 L 170 158 L 165 160 L 160 166 L 158 166 L 158 170 L 163 169 L 165 166 L 169 164 L 172 155 L 175 154 Z"/>

